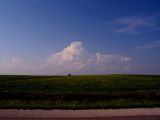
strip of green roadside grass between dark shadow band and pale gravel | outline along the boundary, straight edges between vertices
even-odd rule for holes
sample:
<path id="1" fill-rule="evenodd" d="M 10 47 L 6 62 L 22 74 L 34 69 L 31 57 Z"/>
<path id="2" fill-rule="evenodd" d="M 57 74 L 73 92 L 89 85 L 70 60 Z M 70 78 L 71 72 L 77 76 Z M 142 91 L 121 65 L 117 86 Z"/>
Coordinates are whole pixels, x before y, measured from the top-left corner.
<path id="1" fill-rule="evenodd" d="M 158 100 L 117 99 L 106 101 L 21 101 L 1 100 L 4 109 L 109 109 L 109 108 L 152 108 L 160 107 Z"/>

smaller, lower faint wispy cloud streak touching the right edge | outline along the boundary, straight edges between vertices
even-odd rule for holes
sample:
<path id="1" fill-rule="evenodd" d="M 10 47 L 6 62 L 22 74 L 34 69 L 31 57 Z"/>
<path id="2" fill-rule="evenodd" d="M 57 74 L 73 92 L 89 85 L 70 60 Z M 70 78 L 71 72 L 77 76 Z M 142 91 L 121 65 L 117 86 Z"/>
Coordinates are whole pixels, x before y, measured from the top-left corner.
<path id="1" fill-rule="evenodd" d="M 160 47 L 160 41 L 155 41 L 155 42 L 152 42 L 152 43 L 148 43 L 148 44 L 139 46 L 136 49 L 144 50 L 144 49 L 153 49 L 153 48 L 157 48 L 157 47 Z"/>

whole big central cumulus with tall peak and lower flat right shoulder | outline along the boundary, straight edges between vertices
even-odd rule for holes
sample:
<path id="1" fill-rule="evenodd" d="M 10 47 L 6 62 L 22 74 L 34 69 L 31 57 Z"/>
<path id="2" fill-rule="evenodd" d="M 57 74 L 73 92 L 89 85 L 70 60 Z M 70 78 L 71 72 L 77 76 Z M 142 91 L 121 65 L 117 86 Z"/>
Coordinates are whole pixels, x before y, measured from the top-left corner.
<path id="1" fill-rule="evenodd" d="M 130 57 L 117 54 L 90 54 L 82 42 L 74 41 L 62 51 L 50 55 L 45 68 L 58 74 L 121 73 L 129 69 L 131 62 Z"/>

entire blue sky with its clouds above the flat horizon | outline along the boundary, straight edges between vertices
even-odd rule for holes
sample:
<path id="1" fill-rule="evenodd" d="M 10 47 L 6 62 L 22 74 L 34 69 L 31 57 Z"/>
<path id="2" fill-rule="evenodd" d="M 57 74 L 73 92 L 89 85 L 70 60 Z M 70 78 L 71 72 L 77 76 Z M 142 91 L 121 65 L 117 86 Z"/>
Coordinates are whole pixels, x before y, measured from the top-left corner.
<path id="1" fill-rule="evenodd" d="M 0 74 L 160 74 L 160 0 L 0 0 Z"/>

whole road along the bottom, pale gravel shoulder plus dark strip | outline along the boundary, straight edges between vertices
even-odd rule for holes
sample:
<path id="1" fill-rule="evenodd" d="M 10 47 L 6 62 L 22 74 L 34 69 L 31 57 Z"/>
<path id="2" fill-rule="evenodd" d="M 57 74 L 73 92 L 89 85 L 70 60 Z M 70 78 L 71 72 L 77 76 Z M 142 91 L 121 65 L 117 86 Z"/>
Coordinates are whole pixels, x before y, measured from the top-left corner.
<path id="1" fill-rule="evenodd" d="M 0 109 L 0 120 L 160 120 L 160 108 L 109 110 Z"/>

